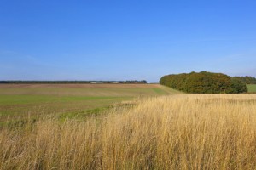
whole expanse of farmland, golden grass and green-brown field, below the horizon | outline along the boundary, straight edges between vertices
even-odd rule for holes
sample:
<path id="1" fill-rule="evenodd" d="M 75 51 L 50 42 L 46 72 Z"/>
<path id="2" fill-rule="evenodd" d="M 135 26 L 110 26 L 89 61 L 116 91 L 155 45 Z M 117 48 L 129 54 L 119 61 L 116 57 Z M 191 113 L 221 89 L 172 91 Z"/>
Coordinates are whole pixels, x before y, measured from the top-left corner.
<path id="1" fill-rule="evenodd" d="M 256 167 L 256 94 L 182 94 L 159 84 L 0 87 L 0 169 Z"/>

